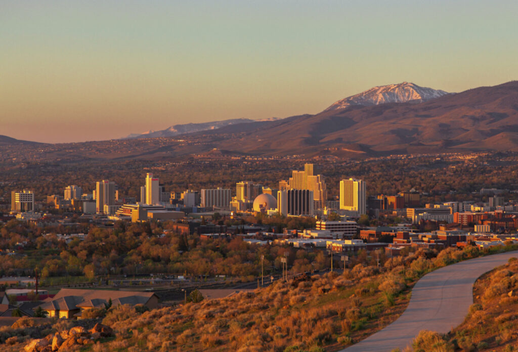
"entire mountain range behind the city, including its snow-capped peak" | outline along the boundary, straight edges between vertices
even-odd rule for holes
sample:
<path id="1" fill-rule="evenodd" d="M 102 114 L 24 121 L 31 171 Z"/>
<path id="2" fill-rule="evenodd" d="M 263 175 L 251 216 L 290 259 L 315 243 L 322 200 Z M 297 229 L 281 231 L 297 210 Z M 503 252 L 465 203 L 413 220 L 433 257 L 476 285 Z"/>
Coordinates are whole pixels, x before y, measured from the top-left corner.
<path id="1" fill-rule="evenodd" d="M 181 141 L 154 138 L 172 136 L 181 136 Z M 518 81 L 460 93 L 404 82 L 373 87 L 338 100 L 317 114 L 177 124 L 127 138 L 31 147 L 31 142 L 0 136 L 0 147 L 6 157 L 6 148 L 12 145 L 19 153 L 24 146 L 40 151 L 37 153 L 48 149 L 60 158 L 76 148 L 76 159 L 83 154 L 127 159 L 218 153 L 367 157 L 518 151 Z"/>

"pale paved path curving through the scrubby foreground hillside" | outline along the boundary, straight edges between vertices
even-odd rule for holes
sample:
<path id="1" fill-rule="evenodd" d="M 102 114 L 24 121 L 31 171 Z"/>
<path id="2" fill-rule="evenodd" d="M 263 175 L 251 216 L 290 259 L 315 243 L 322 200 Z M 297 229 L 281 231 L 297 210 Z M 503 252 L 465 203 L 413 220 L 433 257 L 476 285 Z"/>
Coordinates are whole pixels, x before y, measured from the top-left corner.
<path id="1" fill-rule="evenodd" d="M 396 321 L 342 351 L 403 350 L 421 330 L 449 332 L 464 321 L 473 304 L 477 278 L 511 257 L 518 257 L 518 251 L 470 259 L 426 274 L 415 284 L 407 309 Z"/>

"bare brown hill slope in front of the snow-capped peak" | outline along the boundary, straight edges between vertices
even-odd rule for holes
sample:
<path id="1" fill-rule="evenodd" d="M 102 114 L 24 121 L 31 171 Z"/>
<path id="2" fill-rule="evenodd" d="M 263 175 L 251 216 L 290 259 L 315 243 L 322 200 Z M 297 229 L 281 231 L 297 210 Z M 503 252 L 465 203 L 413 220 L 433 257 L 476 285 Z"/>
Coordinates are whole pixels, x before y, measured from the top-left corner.
<path id="1" fill-rule="evenodd" d="M 422 104 L 354 106 L 293 116 L 241 131 L 221 148 L 313 154 L 518 150 L 518 81 L 445 95 Z M 239 125 L 232 126 L 232 133 Z M 229 133 L 225 128 L 212 132 Z"/>

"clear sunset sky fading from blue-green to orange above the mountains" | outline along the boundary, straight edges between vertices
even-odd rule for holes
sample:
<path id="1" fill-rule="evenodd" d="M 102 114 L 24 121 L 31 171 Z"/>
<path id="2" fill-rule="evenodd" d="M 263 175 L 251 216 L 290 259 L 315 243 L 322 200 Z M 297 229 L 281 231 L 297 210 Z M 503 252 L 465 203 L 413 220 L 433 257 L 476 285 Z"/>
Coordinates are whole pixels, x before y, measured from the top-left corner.
<path id="1" fill-rule="evenodd" d="M 0 0 L 0 135 L 62 143 L 518 79 L 516 0 Z"/>

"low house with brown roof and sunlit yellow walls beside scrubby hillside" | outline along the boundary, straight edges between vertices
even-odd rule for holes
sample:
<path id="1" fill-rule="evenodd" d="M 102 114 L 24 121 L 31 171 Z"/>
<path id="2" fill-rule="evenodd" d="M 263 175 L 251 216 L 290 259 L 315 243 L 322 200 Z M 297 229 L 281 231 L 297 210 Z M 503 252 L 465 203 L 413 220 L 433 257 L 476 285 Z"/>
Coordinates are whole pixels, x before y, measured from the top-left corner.
<path id="1" fill-rule="evenodd" d="M 154 309 L 159 299 L 153 292 L 62 288 L 39 306 L 49 317 L 80 319 L 85 310 L 105 307 L 110 301 L 112 306 L 141 304 Z"/>

